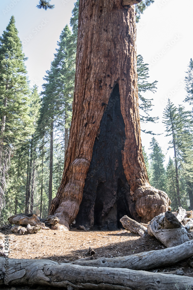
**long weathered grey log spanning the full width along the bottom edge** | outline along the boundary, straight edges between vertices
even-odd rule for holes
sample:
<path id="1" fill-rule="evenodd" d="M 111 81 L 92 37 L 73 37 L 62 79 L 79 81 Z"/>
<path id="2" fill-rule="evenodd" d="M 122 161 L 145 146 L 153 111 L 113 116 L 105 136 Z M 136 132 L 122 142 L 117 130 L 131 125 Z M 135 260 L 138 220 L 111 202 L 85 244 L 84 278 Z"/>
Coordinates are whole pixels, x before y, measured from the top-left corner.
<path id="1" fill-rule="evenodd" d="M 193 288 L 193 278 L 120 268 L 82 267 L 50 260 L 0 258 L 0 285 L 45 285 L 65 289 L 185 290 Z"/>

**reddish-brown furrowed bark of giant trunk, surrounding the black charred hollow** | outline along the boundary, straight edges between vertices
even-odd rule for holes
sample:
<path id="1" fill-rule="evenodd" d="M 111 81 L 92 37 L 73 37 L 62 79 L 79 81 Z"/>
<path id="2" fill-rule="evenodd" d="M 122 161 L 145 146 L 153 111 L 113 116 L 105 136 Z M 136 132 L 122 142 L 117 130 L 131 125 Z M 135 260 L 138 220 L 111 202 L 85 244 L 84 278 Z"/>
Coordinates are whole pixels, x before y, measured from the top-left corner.
<path id="1" fill-rule="evenodd" d="M 133 192 L 128 199 L 136 202 L 133 215 L 146 222 L 168 210 L 166 193 L 149 184 L 142 154 L 135 37 L 134 6 L 125 8 L 121 0 L 80 0 L 72 124 L 63 178 L 49 212 L 63 229 L 78 214 L 95 139 L 116 84 L 124 120 L 122 166 Z"/>

